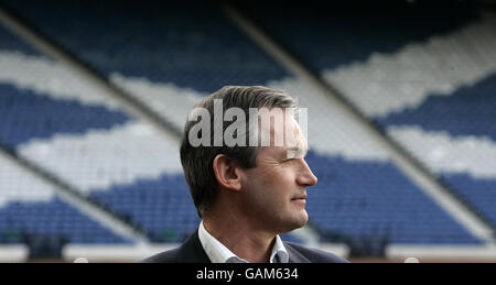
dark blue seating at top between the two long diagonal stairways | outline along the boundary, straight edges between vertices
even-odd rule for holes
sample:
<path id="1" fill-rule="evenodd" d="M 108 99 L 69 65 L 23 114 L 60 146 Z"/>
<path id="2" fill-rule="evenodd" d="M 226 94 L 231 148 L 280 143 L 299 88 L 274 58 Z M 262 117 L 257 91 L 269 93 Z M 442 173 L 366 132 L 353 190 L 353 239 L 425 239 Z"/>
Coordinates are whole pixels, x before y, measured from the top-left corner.
<path id="1" fill-rule="evenodd" d="M 226 81 L 254 85 L 288 75 L 208 1 L 6 6 L 108 77 L 120 74 L 212 92 Z"/>

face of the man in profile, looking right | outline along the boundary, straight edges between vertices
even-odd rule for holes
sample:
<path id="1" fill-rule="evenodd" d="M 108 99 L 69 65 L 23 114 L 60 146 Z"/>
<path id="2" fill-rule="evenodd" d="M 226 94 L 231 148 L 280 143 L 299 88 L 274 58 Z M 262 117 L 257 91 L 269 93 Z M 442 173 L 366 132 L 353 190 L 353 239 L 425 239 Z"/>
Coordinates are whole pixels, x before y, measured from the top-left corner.
<path id="1" fill-rule="evenodd" d="M 292 231 L 308 222 L 305 188 L 317 180 L 304 161 L 308 143 L 300 127 L 292 117 L 279 116 L 284 117 L 282 124 L 276 118 L 272 124 L 260 128 L 260 133 L 270 134 L 271 145 L 259 151 L 257 167 L 244 171 L 241 206 L 261 229 L 276 233 Z M 267 118 L 260 118 L 263 119 Z M 283 135 L 284 128 L 292 135 L 285 135 L 282 146 L 274 146 L 274 136 Z"/>

